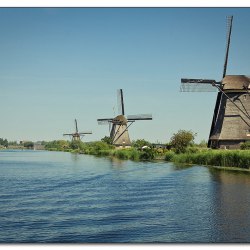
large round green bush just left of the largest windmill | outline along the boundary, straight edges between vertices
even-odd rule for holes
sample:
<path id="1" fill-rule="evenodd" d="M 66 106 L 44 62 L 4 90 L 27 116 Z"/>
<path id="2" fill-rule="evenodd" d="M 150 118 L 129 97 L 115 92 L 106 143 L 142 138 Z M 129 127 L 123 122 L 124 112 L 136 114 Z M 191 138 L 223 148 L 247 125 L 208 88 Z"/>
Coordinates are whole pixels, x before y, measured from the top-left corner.
<path id="1" fill-rule="evenodd" d="M 186 148 L 193 143 L 196 133 L 192 131 L 179 130 L 173 134 L 170 139 L 170 144 L 175 149 L 177 154 L 184 153 Z"/>

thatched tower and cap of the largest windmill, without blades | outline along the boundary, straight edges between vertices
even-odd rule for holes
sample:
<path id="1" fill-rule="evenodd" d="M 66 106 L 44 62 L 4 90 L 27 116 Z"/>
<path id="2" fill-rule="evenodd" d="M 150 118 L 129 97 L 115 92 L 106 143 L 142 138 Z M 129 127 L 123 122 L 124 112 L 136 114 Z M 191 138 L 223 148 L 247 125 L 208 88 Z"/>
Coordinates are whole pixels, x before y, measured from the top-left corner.
<path id="1" fill-rule="evenodd" d="M 244 75 L 227 75 L 218 93 L 216 117 L 209 136 L 212 148 L 239 148 L 250 140 L 250 78 Z M 218 98 L 217 98 L 218 99 Z"/>

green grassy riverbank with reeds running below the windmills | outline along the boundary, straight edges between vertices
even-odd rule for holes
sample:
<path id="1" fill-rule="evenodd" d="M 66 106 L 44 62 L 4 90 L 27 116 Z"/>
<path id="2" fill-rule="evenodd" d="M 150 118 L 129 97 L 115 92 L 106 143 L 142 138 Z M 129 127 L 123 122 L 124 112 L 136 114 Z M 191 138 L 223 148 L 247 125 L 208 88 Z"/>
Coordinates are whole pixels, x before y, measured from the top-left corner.
<path id="1" fill-rule="evenodd" d="M 198 164 L 227 168 L 249 169 L 250 150 L 215 150 L 202 147 L 189 147 L 185 153 L 176 153 L 174 150 L 131 147 L 116 149 L 103 141 L 83 143 L 53 141 L 45 145 L 45 149 L 65 151 L 96 156 L 116 157 L 123 160 L 165 160 L 181 164 Z"/>

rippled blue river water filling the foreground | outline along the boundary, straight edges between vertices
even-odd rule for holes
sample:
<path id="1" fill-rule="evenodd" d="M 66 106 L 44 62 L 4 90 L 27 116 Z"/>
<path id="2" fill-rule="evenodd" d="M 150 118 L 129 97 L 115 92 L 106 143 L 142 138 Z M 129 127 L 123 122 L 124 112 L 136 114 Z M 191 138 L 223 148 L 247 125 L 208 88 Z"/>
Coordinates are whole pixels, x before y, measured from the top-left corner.
<path id="1" fill-rule="evenodd" d="M 0 243 L 250 242 L 250 175 L 0 151 Z"/>

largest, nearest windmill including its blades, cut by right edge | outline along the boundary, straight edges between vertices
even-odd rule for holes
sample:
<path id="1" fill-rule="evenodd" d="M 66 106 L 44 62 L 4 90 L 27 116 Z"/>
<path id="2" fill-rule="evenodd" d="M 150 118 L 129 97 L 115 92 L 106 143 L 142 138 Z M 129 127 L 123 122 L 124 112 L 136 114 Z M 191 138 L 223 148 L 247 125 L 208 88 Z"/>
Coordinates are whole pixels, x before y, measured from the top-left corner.
<path id="1" fill-rule="evenodd" d="M 227 44 L 222 80 L 181 79 L 181 91 L 217 90 L 217 99 L 208 140 L 211 148 L 239 148 L 250 139 L 250 78 L 226 75 L 233 16 L 227 17 Z"/>

